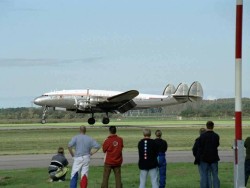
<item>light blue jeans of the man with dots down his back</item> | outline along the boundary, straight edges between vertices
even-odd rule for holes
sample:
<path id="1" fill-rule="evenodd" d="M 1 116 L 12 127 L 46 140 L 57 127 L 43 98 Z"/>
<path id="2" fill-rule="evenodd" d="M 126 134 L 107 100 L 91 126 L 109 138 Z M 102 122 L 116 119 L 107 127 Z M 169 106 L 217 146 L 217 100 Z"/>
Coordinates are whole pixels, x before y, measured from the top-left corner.
<path id="1" fill-rule="evenodd" d="M 140 170 L 140 186 L 139 188 L 145 188 L 146 187 L 146 181 L 148 174 L 151 178 L 151 184 L 152 188 L 159 188 L 158 182 L 157 182 L 157 168 L 152 168 L 150 170 Z"/>

